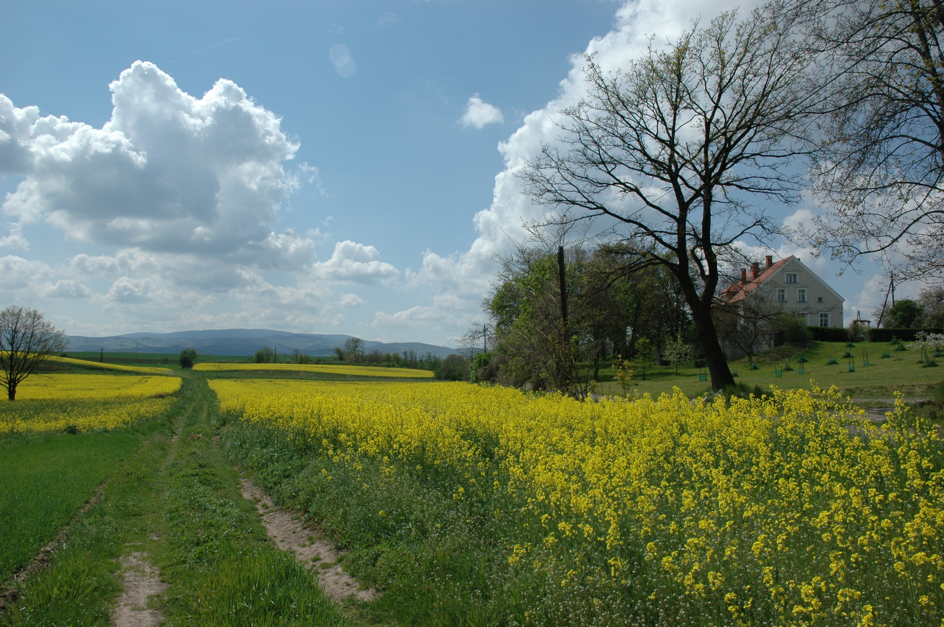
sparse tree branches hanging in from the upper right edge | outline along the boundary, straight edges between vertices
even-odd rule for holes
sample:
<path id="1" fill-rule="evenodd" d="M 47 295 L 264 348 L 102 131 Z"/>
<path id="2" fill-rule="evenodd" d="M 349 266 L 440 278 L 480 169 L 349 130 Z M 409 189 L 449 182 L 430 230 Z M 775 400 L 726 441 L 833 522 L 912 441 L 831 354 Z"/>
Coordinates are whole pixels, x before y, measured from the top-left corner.
<path id="1" fill-rule="evenodd" d="M 830 84 L 812 173 L 829 208 L 798 235 L 846 263 L 944 279 L 944 6 L 827 0 L 813 28 Z"/>

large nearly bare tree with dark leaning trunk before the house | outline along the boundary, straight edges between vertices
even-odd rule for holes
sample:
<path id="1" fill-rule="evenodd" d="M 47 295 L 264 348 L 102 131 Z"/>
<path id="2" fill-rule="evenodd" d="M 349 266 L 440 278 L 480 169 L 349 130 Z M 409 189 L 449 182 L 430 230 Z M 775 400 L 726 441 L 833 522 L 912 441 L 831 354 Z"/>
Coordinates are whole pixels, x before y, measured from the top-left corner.
<path id="1" fill-rule="evenodd" d="M 586 57 L 588 95 L 566 108 L 563 136 L 520 174 L 558 222 L 606 218 L 675 274 L 708 362 L 713 388 L 733 385 L 712 308 L 719 264 L 743 258 L 734 245 L 761 243 L 778 227 L 750 200 L 800 199 L 804 112 L 818 91 L 812 53 L 796 36 L 798 14 L 775 2 L 738 21 L 724 13 L 695 25 L 625 71 L 604 73 Z"/>

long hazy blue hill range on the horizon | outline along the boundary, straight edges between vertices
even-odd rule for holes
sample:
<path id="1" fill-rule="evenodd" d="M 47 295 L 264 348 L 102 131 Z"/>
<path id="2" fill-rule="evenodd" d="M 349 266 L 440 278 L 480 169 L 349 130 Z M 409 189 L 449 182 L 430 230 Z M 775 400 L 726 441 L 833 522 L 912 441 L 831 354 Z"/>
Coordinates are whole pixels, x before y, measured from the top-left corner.
<path id="1" fill-rule="evenodd" d="M 193 348 L 199 355 L 255 355 L 263 346 L 271 346 L 279 355 L 288 355 L 298 349 L 306 355 L 333 355 L 334 347 L 344 346 L 351 336 L 329 336 L 313 333 L 288 333 L 272 329 L 211 329 L 207 331 L 176 331 L 174 333 L 128 333 L 107 338 L 66 336 L 69 351 L 98 351 L 106 353 L 179 353 Z M 416 355 L 431 353 L 445 357 L 456 349 L 422 342 L 377 342 L 364 340 L 366 351 L 382 353 L 415 351 Z"/>

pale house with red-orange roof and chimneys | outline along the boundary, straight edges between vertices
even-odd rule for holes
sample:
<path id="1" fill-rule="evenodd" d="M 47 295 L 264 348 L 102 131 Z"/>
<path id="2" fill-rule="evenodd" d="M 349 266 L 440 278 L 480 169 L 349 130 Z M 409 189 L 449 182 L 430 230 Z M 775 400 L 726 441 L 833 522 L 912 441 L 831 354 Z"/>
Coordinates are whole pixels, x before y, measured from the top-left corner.
<path id="1" fill-rule="evenodd" d="M 795 256 L 774 263 L 767 256 L 767 267 L 754 263 L 741 269 L 741 280 L 721 292 L 721 297 L 735 304 L 751 298 L 762 298 L 772 309 L 801 316 L 809 326 L 844 326 L 842 296 L 826 285 L 815 272 Z"/>

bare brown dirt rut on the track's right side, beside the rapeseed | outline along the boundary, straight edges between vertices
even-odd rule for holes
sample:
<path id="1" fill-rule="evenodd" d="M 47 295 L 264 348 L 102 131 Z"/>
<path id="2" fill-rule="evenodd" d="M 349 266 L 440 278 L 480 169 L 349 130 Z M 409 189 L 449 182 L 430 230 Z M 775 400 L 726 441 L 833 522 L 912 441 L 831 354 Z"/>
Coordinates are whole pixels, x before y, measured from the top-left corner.
<path id="1" fill-rule="evenodd" d="M 269 537 L 282 551 L 292 551 L 298 560 L 317 572 L 318 585 L 331 599 L 341 601 L 350 597 L 371 601 L 378 597 L 373 588 L 360 589 L 357 581 L 338 564 L 338 553 L 321 532 L 312 532 L 278 507 L 259 487 L 248 479 L 242 482 L 244 498 L 256 504 L 262 524 Z"/>

